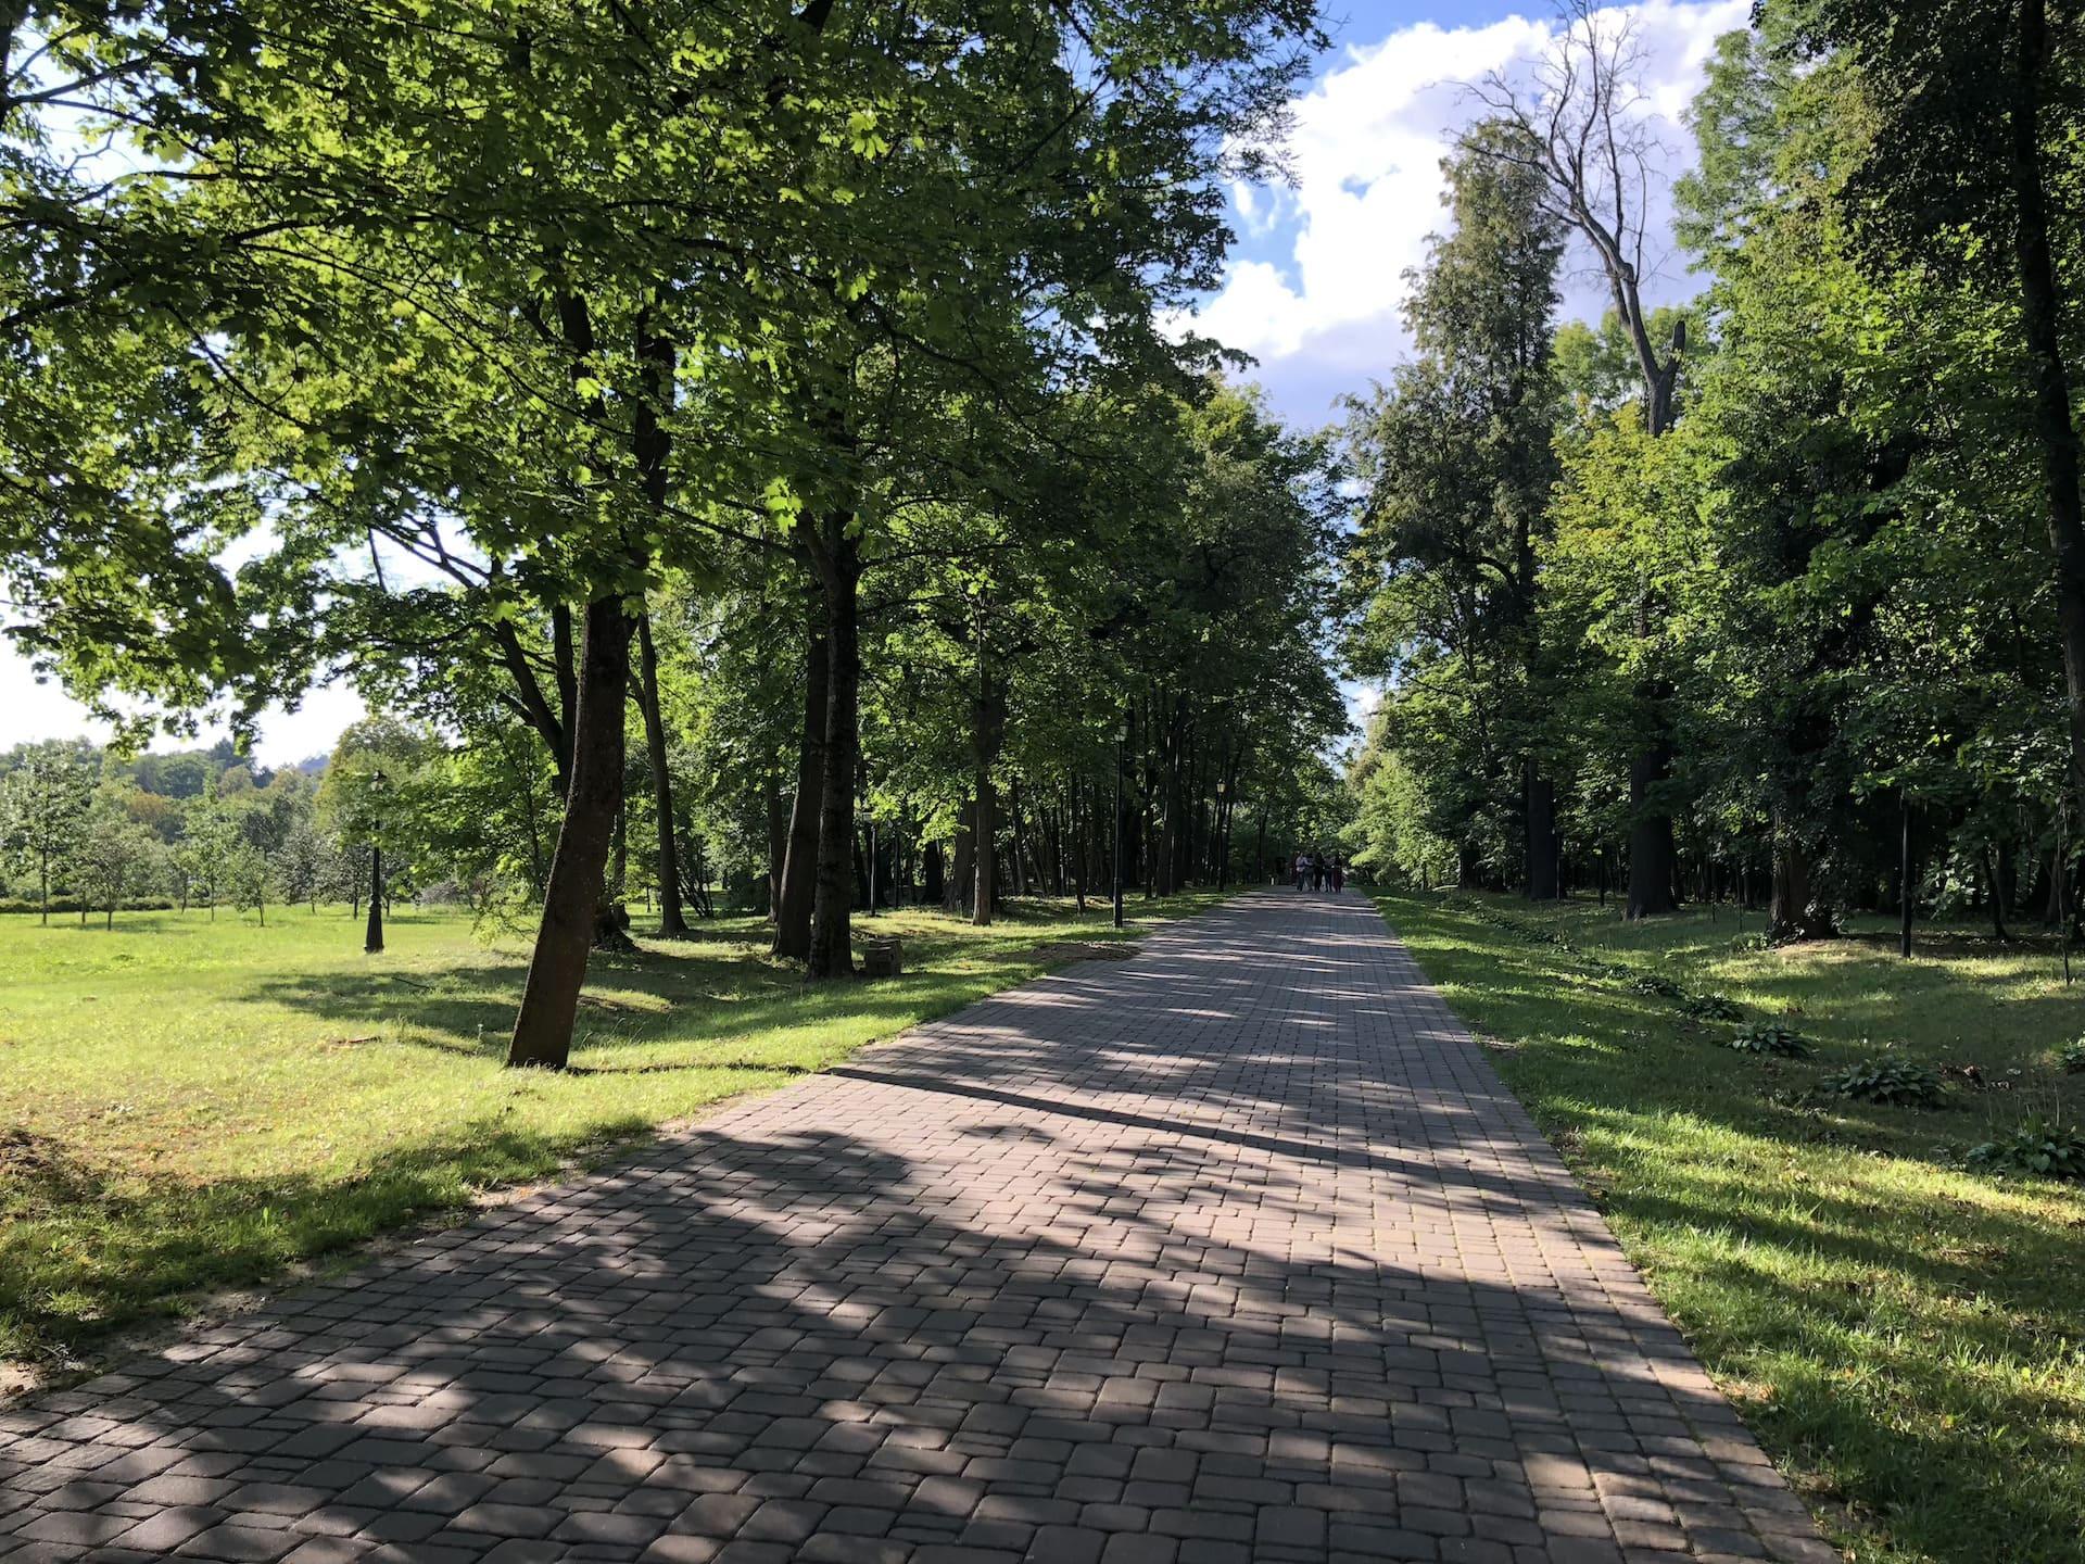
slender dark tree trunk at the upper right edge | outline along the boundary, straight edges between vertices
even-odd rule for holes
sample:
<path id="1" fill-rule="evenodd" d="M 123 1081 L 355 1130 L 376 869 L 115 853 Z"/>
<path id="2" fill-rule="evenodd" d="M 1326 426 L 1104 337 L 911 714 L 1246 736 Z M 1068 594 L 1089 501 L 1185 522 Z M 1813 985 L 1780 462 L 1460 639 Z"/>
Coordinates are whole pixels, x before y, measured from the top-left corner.
<path id="1" fill-rule="evenodd" d="M 2050 254 L 2047 192 L 2041 179 L 2041 94 L 2050 69 L 2045 0 L 2020 4 L 2020 56 L 2012 111 L 2012 173 L 2018 198 L 2014 248 L 2020 265 L 2020 327 L 2041 478 L 2047 486 L 2050 553 L 2056 565 L 2056 624 L 2064 651 L 2070 715 L 2070 799 L 2085 817 L 2085 500 L 2079 494 L 2079 432 L 2070 415 L 2062 298 Z"/>

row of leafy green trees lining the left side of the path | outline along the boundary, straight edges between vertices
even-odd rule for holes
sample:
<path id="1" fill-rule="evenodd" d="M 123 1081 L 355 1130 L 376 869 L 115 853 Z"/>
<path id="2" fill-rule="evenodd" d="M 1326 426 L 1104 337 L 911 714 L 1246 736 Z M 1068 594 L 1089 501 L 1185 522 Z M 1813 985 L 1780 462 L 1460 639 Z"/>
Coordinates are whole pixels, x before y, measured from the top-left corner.
<path id="1" fill-rule="evenodd" d="M 534 924 L 509 1057 L 557 1066 L 638 893 L 671 936 L 738 886 L 832 980 L 894 893 L 1097 890 L 1118 769 L 1143 890 L 1334 828 L 1330 453 L 1166 327 L 1320 44 L 1311 0 L 13 6 L 10 632 L 133 738 L 382 715 L 254 788 L 279 834 L 17 755 L 10 890 L 377 851 Z"/>

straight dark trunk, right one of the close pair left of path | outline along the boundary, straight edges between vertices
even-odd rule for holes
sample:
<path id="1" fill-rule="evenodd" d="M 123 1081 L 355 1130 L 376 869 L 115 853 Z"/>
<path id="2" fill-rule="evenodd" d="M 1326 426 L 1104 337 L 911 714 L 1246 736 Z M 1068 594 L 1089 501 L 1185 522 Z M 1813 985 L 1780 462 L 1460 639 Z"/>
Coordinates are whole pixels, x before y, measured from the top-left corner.
<path id="1" fill-rule="evenodd" d="M 817 815 L 817 886 L 811 897 L 813 978 L 855 974 L 855 767 L 861 755 L 861 544 L 851 515 L 826 519 L 817 548 L 826 605 L 826 786 Z"/>

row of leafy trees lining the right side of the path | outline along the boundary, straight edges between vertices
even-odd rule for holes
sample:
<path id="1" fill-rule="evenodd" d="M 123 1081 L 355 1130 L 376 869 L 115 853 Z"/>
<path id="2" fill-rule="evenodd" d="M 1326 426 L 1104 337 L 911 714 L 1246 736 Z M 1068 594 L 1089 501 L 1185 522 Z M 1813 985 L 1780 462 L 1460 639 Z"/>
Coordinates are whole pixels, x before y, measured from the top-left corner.
<path id="1" fill-rule="evenodd" d="M 1620 13 L 1478 83 L 1351 409 L 1364 863 L 1628 915 L 2068 922 L 2085 820 L 2085 27 L 1766 0 L 1649 231 Z M 1699 279 L 1649 309 L 1660 256 Z M 1612 298 L 1557 323 L 1560 277 Z M 1668 273 L 1670 275 L 1670 273 Z M 1906 932 L 1910 938 L 1910 932 Z"/>

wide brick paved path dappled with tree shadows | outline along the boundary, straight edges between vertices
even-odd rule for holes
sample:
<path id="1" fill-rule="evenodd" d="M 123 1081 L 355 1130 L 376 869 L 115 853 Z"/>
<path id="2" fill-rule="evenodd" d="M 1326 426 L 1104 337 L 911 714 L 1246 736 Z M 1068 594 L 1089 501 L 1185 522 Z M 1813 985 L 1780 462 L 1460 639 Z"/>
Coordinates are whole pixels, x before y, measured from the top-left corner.
<path id="1" fill-rule="evenodd" d="M 1359 899 L 0 1412 L 19 1560 L 1831 1560 Z"/>

